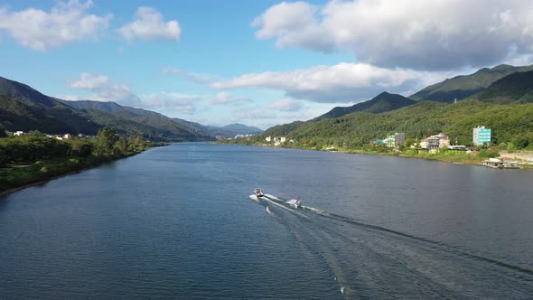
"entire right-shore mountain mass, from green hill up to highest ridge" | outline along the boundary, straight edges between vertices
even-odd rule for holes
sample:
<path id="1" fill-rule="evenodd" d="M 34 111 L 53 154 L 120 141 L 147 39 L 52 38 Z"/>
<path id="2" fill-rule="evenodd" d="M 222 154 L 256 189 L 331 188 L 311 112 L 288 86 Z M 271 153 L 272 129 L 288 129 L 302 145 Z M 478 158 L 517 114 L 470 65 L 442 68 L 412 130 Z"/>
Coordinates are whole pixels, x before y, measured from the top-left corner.
<path id="1" fill-rule="evenodd" d="M 392 94 L 381 93 L 349 108 L 333 108 L 309 121 L 267 128 L 262 137 L 287 136 L 307 146 L 360 146 L 394 132 L 405 132 L 412 138 L 444 132 L 470 145 L 472 128 L 484 125 L 493 128 L 494 143 L 533 145 L 533 66 L 484 68 L 436 83 L 414 95 L 419 97 L 413 96 L 417 101 L 402 102 L 399 95 L 393 98 Z M 461 101 L 453 104 L 454 98 Z M 398 103 L 400 108 L 383 103 Z"/>

